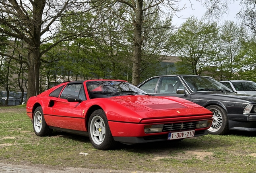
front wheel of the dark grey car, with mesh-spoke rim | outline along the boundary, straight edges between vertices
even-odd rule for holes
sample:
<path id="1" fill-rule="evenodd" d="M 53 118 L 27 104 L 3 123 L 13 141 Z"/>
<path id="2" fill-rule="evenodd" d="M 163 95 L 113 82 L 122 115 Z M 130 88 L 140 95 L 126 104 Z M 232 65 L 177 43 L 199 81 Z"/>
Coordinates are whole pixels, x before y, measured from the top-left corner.
<path id="1" fill-rule="evenodd" d="M 208 133 L 213 135 L 225 135 L 229 132 L 227 112 L 217 105 L 206 107 L 213 112 L 213 123 L 208 129 Z"/>

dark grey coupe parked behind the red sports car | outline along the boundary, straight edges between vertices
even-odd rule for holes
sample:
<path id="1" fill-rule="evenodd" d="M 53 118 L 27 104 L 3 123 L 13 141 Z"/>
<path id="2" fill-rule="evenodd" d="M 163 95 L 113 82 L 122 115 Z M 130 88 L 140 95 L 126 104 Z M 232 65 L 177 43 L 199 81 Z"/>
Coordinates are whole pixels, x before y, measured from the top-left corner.
<path id="1" fill-rule="evenodd" d="M 153 96 L 180 97 L 209 109 L 213 112 L 211 134 L 256 131 L 256 96 L 236 94 L 212 77 L 155 76 L 137 87 Z"/>

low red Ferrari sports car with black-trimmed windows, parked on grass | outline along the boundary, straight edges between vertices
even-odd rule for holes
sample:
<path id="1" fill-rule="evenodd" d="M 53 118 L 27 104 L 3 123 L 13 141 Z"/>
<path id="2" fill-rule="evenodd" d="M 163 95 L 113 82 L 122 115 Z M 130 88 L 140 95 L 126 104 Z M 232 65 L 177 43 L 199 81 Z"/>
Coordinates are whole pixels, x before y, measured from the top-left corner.
<path id="1" fill-rule="evenodd" d="M 178 97 L 153 97 L 124 80 L 69 81 L 29 98 L 37 136 L 53 129 L 89 136 L 106 150 L 124 144 L 207 135 L 212 112 Z"/>

